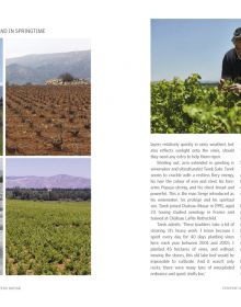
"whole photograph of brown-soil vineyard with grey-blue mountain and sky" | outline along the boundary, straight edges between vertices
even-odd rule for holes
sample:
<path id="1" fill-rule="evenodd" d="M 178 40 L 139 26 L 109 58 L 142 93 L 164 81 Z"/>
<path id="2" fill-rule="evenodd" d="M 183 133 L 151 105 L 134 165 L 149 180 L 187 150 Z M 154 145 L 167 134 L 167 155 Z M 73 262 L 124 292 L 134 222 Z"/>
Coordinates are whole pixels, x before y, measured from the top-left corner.
<path id="1" fill-rule="evenodd" d="M 5 46 L 5 155 L 91 155 L 90 39 Z"/>

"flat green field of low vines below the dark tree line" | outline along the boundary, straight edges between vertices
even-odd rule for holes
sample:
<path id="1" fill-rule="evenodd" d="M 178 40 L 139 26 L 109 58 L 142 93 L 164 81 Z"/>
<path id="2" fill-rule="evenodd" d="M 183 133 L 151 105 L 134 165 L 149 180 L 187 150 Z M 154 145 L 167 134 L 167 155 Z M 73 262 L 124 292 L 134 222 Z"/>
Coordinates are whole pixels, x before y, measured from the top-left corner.
<path id="1" fill-rule="evenodd" d="M 91 274 L 90 202 L 8 200 L 5 273 Z"/>

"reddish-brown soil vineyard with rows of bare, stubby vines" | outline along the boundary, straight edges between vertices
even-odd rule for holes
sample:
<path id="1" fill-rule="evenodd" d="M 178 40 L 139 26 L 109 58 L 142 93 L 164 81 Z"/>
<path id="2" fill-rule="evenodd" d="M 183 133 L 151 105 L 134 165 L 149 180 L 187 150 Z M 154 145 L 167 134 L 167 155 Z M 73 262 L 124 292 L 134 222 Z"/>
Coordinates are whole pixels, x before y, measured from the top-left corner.
<path id="1" fill-rule="evenodd" d="M 91 152 L 91 87 L 7 87 L 7 155 Z"/>

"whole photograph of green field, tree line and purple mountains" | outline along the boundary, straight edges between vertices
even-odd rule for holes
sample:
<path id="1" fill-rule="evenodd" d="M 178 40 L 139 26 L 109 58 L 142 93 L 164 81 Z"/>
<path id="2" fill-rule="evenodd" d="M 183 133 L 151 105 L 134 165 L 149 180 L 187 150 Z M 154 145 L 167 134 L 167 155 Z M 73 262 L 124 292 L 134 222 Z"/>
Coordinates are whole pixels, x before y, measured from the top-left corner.
<path id="1" fill-rule="evenodd" d="M 5 274 L 91 274 L 90 158 L 7 158 Z"/>

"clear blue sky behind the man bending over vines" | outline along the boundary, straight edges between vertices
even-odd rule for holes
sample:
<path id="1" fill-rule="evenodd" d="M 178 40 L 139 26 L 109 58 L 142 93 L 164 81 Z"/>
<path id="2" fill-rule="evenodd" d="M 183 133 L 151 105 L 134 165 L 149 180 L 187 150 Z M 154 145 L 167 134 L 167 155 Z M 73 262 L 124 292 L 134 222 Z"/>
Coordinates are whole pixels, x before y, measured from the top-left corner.
<path id="1" fill-rule="evenodd" d="M 217 81 L 232 34 L 241 20 L 151 20 L 151 80 L 197 72 Z"/>

